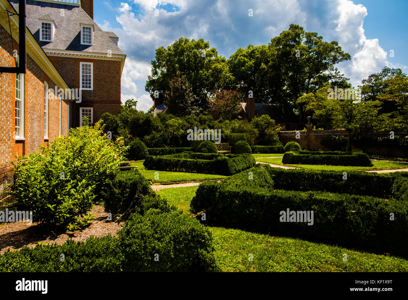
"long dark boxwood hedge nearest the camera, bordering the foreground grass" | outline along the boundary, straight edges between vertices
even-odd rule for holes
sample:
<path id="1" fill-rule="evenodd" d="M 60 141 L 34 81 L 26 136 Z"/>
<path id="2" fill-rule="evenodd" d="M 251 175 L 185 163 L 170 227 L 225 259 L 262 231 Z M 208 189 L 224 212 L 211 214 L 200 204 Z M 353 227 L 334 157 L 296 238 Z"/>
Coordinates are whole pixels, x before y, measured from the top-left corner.
<path id="1" fill-rule="evenodd" d="M 327 192 L 274 192 L 204 182 L 191 201 L 213 224 L 408 256 L 408 202 Z M 313 211 L 308 222 L 281 222 L 281 212 Z M 390 220 L 390 213 L 394 220 Z"/>

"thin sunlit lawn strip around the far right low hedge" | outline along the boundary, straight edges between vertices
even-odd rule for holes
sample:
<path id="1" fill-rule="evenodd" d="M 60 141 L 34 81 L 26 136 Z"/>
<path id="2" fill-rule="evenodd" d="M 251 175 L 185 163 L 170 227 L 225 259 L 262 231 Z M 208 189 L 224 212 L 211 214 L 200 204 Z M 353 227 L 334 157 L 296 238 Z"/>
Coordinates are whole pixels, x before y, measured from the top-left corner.
<path id="1" fill-rule="evenodd" d="M 255 158 L 257 162 L 268 162 L 270 164 L 282 164 L 282 158 Z M 343 167 L 343 166 L 326 166 L 317 164 L 285 164 L 285 166 L 298 167 L 312 170 L 328 170 L 328 171 L 356 171 L 356 170 L 372 170 L 372 169 L 388 169 L 388 168 L 408 168 L 406 162 L 387 162 L 384 160 L 373 161 L 374 167 Z"/>

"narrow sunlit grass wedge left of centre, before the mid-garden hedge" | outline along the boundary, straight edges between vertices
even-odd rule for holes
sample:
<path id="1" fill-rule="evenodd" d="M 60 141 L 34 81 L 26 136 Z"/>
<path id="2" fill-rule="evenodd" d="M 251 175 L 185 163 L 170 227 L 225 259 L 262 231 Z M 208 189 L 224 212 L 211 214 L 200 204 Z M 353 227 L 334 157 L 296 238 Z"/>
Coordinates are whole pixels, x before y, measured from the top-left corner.
<path id="1" fill-rule="evenodd" d="M 202 174 L 202 173 L 146 170 L 144 168 L 143 162 L 134 162 L 132 165 L 137 166 L 138 167 L 137 170 L 139 170 L 140 173 L 142 173 L 142 175 L 147 180 L 150 180 L 151 182 L 181 182 L 181 181 L 192 181 L 192 180 L 222 179 L 222 178 L 227 177 L 223 175 Z M 155 174 L 155 172 L 157 172 L 157 174 Z M 155 179 L 156 175 L 158 175 L 158 179 Z"/>

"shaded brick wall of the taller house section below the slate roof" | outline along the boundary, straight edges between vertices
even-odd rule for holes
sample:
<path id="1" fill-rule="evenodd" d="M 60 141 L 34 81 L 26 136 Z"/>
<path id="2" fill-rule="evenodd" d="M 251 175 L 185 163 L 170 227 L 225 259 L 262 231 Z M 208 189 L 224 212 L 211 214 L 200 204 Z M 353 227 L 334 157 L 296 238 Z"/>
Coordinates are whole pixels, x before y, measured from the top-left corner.
<path id="1" fill-rule="evenodd" d="M 79 108 L 93 107 L 93 121 L 99 120 L 103 113 L 120 113 L 120 62 L 50 56 L 51 62 L 71 89 L 80 88 L 80 62 L 93 63 L 93 90 L 82 91 L 82 102 L 73 102 L 71 127 L 80 125 Z"/>

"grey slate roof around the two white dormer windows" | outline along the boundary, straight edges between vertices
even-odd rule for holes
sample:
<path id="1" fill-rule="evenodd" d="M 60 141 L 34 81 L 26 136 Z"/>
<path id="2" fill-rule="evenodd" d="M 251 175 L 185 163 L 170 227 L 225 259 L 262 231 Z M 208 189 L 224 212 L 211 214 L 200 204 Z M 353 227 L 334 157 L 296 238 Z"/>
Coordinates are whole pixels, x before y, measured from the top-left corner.
<path id="1" fill-rule="evenodd" d="M 18 0 L 9 0 L 9 2 L 18 12 Z M 118 36 L 111 31 L 103 31 L 81 7 L 64 4 L 64 2 L 27 0 L 26 3 L 27 28 L 44 50 L 98 53 L 108 53 L 110 50 L 112 54 L 125 54 L 110 38 Z M 64 12 L 64 16 L 61 16 L 61 11 Z M 57 28 L 52 42 L 40 41 L 40 21 L 38 19 L 50 19 L 55 22 Z M 80 23 L 93 25 L 92 45 L 81 44 Z"/>

